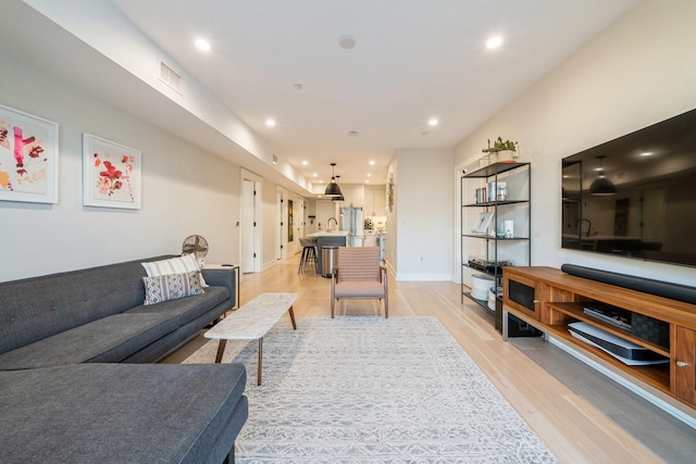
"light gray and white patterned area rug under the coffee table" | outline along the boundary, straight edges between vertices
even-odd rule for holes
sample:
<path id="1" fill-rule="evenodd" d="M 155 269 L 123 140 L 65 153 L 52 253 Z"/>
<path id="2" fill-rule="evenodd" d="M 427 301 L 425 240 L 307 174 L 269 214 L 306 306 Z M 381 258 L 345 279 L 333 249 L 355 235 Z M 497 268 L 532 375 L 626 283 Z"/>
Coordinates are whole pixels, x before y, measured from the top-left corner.
<path id="1" fill-rule="evenodd" d="M 239 463 L 554 463 L 436 317 L 283 317 L 247 366 Z M 211 340 L 185 363 L 212 363 Z"/>

